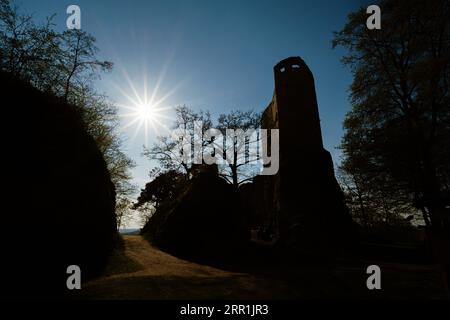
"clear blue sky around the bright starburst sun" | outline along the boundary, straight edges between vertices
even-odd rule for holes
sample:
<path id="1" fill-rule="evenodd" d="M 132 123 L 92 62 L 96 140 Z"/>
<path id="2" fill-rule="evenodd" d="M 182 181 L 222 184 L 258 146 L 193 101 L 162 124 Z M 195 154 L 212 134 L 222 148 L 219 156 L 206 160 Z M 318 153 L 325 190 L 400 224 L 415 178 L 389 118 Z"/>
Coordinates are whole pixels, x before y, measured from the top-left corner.
<path id="1" fill-rule="evenodd" d="M 98 57 L 114 68 L 95 82 L 126 114 L 129 97 L 154 93 L 167 108 L 160 121 L 170 126 L 173 107 L 209 110 L 213 116 L 231 110 L 263 111 L 274 88 L 273 66 L 300 56 L 311 69 L 325 148 L 339 161 L 342 122 L 350 110 L 352 76 L 342 65 L 342 48 L 332 48 L 333 31 L 347 15 L 370 3 L 363 0 L 314 1 L 15 1 L 40 22 L 56 13 L 56 29 L 66 28 L 66 9 L 81 9 L 81 28 L 97 39 Z M 166 118 L 167 117 L 167 118 Z M 142 156 L 164 134 L 161 125 L 147 134 L 130 118 L 121 118 L 124 151 L 136 162 L 133 183 L 148 182 L 154 166 Z"/>

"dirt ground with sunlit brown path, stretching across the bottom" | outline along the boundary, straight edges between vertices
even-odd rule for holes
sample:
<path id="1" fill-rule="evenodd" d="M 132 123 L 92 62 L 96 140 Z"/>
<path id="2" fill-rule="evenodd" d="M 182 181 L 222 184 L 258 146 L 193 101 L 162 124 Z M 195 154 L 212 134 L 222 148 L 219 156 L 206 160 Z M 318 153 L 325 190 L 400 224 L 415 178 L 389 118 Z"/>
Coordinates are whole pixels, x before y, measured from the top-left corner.
<path id="1" fill-rule="evenodd" d="M 382 290 L 366 287 L 366 266 L 268 269 L 256 275 L 189 262 L 123 236 L 100 278 L 83 285 L 82 299 L 429 299 L 445 298 L 432 265 L 380 264 Z"/>

